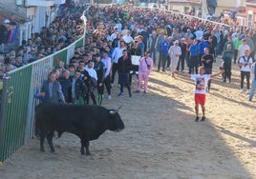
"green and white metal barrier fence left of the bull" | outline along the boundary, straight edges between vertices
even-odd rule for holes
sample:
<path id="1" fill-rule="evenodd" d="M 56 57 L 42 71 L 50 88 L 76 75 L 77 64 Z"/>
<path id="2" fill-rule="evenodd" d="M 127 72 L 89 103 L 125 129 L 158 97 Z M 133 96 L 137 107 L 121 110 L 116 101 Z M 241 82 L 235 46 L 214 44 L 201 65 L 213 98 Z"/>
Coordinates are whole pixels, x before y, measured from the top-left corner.
<path id="1" fill-rule="evenodd" d="M 1 162 L 32 138 L 34 107 L 39 103 L 34 94 L 40 89 L 42 80 L 47 79 L 49 71 L 56 67 L 59 61 L 68 64 L 68 60 L 74 55 L 75 47 L 83 45 L 84 36 L 63 50 L 9 73 L 10 78 L 4 82 L 2 90 L 0 111 Z"/>

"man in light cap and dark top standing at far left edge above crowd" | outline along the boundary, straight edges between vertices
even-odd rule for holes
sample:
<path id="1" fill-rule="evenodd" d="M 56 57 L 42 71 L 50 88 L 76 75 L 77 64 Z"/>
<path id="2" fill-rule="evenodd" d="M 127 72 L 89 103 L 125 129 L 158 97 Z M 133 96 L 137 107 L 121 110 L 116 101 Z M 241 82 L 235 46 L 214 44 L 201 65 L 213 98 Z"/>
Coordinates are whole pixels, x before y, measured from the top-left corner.
<path id="1" fill-rule="evenodd" d="M 0 25 L 0 51 L 5 50 L 5 44 L 7 44 L 8 37 L 10 35 L 10 20 L 5 19 L 3 24 Z"/>

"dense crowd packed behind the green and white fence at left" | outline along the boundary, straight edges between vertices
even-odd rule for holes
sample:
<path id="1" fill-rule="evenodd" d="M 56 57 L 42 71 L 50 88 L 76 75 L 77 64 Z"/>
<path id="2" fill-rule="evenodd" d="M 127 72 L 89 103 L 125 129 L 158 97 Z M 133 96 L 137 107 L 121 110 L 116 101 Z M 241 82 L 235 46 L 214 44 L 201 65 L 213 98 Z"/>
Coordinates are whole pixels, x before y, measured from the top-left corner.
<path id="1" fill-rule="evenodd" d="M 19 47 L 16 45 L 18 23 L 15 17 L 11 16 L 0 23 L 0 98 L 3 81 L 8 79 L 9 71 L 53 54 L 83 34 L 83 21 L 79 17 L 85 8 L 83 5 L 75 6 L 74 3 L 61 6 L 49 27 L 42 27 L 40 32 L 32 33 L 32 37 L 23 40 Z"/>

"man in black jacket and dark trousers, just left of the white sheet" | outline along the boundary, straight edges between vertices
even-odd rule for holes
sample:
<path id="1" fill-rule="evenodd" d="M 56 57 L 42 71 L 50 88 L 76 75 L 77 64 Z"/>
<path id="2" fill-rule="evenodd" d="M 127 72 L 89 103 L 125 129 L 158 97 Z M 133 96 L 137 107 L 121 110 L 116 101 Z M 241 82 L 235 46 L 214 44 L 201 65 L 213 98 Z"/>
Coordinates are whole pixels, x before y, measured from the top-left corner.
<path id="1" fill-rule="evenodd" d="M 120 84 L 119 96 L 123 96 L 123 86 L 125 85 L 128 89 L 129 96 L 132 97 L 131 87 L 129 83 L 129 73 L 132 67 L 131 56 L 128 54 L 127 50 L 122 51 L 122 56 L 117 62 L 117 72 L 118 72 L 118 83 Z"/>

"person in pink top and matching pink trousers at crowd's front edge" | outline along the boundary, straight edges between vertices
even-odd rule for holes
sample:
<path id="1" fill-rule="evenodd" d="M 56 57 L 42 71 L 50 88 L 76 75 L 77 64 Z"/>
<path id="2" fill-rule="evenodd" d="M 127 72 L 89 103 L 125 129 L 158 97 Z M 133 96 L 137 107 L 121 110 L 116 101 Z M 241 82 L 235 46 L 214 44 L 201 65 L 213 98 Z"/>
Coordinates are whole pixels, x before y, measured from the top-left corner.
<path id="1" fill-rule="evenodd" d="M 144 89 L 144 93 L 146 93 L 148 76 L 151 70 L 153 70 L 153 64 L 154 62 L 153 62 L 153 59 L 150 57 L 150 51 L 146 51 L 145 56 L 141 57 L 139 62 L 139 79 L 138 79 L 137 89 L 136 89 L 137 93 L 140 92 L 140 88 L 143 81 L 144 81 L 143 89 Z"/>

